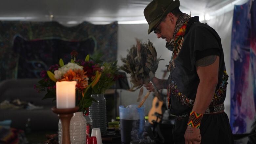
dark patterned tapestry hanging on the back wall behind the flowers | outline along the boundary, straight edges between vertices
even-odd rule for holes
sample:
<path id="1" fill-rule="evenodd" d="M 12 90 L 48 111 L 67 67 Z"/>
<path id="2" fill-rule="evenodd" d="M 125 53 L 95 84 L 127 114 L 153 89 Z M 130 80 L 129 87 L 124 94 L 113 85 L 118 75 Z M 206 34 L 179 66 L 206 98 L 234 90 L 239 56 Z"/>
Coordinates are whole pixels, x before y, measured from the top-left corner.
<path id="1" fill-rule="evenodd" d="M 83 22 L 65 27 L 57 22 L 0 21 L 0 81 L 8 78 L 38 78 L 40 71 L 76 50 L 103 52 L 102 60 L 117 59 L 117 22 L 93 25 Z"/>

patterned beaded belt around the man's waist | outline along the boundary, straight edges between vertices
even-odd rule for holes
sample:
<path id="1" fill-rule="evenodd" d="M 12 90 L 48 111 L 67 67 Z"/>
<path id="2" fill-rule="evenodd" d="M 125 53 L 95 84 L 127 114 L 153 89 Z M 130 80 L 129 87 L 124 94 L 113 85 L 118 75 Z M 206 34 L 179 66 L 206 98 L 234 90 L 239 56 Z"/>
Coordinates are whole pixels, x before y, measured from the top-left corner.
<path id="1" fill-rule="evenodd" d="M 209 107 L 209 108 L 207 108 L 207 110 L 205 111 L 204 114 L 217 114 L 217 113 L 222 113 L 222 112 L 224 112 L 224 104 Z M 189 113 L 190 112 L 176 115 L 176 118 L 178 120 L 181 120 L 185 117 L 189 117 Z"/>

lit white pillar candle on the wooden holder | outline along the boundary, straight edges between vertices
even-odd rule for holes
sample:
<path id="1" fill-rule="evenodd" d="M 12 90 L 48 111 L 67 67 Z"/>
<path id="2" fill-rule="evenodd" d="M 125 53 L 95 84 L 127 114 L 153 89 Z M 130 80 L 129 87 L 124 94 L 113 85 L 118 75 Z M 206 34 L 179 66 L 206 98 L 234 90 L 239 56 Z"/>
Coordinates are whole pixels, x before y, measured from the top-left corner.
<path id="1" fill-rule="evenodd" d="M 75 108 L 76 81 L 56 82 L 56 101 L 58 109 Z"/>

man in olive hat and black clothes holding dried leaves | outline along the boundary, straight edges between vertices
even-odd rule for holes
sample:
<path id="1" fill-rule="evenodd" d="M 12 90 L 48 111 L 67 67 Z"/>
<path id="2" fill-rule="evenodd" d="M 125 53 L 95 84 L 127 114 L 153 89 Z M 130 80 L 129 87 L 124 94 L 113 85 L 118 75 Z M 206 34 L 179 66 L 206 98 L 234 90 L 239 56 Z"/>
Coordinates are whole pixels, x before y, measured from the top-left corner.
<path id="1" fill-rule="evenodd" d="M 153 0 L 144 10 L 148 34 L 154 31 L 173 51 L 168 79 L 152 81 L 158 90 L 168 90 L 168 107 L 176 115 L 175 144 L 231 144 L 223 104 L 228 75 L 221 39 L 198 16 L 182 13 L 179 6 L 179 0 Z M 152 84 L 145 87 L 154 91 Z"/>

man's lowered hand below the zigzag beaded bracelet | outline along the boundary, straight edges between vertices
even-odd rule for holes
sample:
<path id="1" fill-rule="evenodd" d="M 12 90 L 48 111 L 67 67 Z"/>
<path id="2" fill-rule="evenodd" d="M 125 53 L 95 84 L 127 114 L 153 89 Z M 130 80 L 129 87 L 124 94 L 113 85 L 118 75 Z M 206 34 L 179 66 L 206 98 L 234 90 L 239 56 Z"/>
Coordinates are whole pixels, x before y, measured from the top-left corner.
<path id="1" fill-rule="evenodd" d="M 184 138 L 185 138 L 185 144 L 200 144 L 201 143 L 200 129 L 187 126 Z"/>

